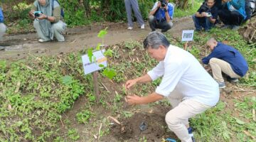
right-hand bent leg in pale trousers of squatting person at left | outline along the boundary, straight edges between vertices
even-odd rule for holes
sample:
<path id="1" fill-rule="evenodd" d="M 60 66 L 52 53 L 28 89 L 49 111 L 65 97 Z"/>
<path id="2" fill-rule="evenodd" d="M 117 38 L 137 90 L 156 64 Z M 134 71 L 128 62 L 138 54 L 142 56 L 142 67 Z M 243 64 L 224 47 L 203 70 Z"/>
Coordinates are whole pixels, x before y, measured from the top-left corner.
<path id="1" fill-rule="evenodd" d="M 65 38 L 63 36 L 63 31 L 66 28 L 65 23 L 63 21 L 58 21 L 58 23 L 53 23 L 51 26 L 53 30 L 53 35 L 58 41 L 65 41 Z"/>

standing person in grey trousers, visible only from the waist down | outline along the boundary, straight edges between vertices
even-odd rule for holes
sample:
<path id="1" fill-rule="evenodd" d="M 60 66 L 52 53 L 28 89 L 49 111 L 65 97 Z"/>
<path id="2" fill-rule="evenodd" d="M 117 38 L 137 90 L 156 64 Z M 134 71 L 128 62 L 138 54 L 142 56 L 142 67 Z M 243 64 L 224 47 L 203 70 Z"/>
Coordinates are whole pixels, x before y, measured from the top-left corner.
<path id="1" fill-rule="evenodd" d="M 142 14 L 139 11 L 139 4 L 138 0 L 124 0 L 125 9 L 127 11 L 127 20 L 128 20 L 128 29 L 132 30 L 133 23 L 132 23 L 132 10 L 134 11 L 134 15 L 137 18 L 140 28 L 144 29 L 145 24 L 142 18 Z"/>

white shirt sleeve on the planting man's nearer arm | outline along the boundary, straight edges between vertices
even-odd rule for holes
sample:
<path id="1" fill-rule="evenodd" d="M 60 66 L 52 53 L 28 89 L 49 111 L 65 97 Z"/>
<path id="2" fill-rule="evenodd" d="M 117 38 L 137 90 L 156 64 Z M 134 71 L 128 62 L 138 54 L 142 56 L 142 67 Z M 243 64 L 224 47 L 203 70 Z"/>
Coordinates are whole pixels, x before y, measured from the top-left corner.
<path id="1" fill-rule="evenodd" d="M 171 92 L 174 91 L 176 85 L 183 75 L 183 67 L 180 63 L 171 62 L 165 66 L 164 77 L 159 84 L 159 87 L 156 87 L 156 93 L 161 94 L 165 97 L 168 97 Z"/>

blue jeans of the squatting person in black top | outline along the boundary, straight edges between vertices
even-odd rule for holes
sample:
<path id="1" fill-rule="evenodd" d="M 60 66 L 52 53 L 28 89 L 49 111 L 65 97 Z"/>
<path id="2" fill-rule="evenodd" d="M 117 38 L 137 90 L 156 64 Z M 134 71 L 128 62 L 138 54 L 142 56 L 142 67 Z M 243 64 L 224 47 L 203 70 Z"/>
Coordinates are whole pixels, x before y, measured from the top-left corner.
<path id="1" fill-rule="evenodd" d="M 205 31 L 209 31 L 214 26 L 208 18 L 199 18 L 196 15 L 192 16 L 193 22 L 195 23 L 196 31 L 201 31 L 202 27 Z"/>

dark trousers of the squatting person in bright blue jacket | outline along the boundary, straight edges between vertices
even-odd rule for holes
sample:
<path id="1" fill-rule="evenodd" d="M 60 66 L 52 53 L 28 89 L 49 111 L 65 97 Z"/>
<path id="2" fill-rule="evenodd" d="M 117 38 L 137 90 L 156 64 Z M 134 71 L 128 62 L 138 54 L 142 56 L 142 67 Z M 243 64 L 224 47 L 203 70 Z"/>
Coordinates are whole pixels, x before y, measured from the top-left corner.
<path id="1" fill-rule="evenodd" d="M 228 9 L 219 10 L 218 16 L 225 25 L 240 26 L 244 20 L 244 17 L 238 11 L 229 11 Z"/>

